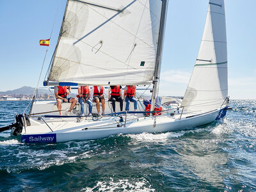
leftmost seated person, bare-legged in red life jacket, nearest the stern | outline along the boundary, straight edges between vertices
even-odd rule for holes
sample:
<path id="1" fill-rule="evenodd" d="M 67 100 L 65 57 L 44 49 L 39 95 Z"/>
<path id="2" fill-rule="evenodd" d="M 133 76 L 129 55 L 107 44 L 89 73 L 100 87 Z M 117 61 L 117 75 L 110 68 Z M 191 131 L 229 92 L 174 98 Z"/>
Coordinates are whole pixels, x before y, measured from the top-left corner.
<path id="1" fill-rule="evenodd" d="M 70 102 L 70 108 L 67 109 L 66 115 L 70 115 L 71 110 L 76 106 L 77 100 L 72 97 L 67 97 L 68 94 L 70 93 L 71 86 L 54 86 L 54 94 L 57 100 L 57 108 L 59 110 L 60 115 L 61 113 L 61 102 Z"/>

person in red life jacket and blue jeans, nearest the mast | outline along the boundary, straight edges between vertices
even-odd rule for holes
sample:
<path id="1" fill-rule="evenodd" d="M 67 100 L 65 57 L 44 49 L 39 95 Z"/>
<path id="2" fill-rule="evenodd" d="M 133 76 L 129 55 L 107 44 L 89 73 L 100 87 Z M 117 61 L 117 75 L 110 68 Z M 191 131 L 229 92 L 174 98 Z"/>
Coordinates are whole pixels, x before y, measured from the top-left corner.
<path id="1" fill-rule="evenodd" d="M 137 100 L 136 100 L 136 86 L 127 85 L 124 88 L 124 97 L 125 97 L 125 111 L 129 111 L 130 101 L 134 104 L 134 111 L 137 110 Z"/>

